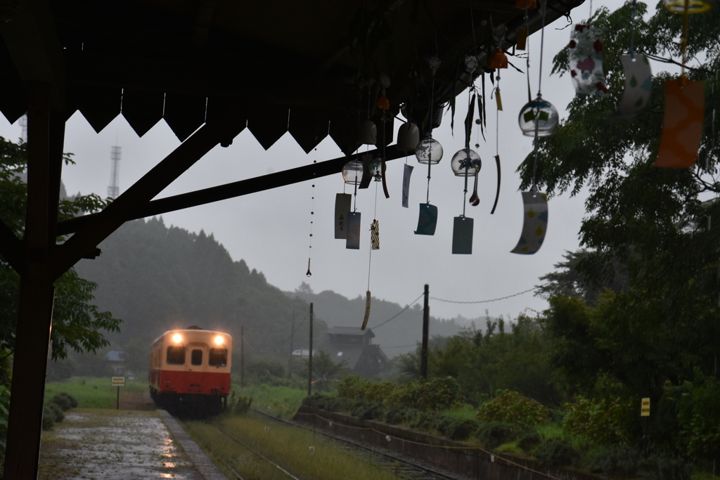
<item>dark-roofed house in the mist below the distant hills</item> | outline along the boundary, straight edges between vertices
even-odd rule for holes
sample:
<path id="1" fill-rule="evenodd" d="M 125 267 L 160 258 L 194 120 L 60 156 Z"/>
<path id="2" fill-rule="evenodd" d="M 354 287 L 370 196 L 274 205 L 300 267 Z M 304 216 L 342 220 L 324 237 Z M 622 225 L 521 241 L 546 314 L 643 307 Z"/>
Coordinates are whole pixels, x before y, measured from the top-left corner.
<path id="1" fill-rule="evenodd" d="M 345 361 L 352 373 L 374 376 L 389 363 L 380 345 L 372 345 L 375 334 L 369 328 L 332 327 L 320 341 L 318 350 L 328 353 L 335 363 Z"/>

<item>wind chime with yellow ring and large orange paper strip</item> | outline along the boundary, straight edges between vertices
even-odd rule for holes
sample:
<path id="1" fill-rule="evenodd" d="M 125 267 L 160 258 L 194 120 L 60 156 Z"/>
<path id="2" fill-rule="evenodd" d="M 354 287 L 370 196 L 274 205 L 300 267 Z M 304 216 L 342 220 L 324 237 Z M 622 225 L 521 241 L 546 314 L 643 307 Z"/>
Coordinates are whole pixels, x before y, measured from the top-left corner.
<path id="1" fill-rule="evenodd" d="M 685 75 L 688 61 L 688 17 L 712 8 L 708 0 L 663 0 L 667 10 L 683 14 L 683 67 L 680 78 L 665 81 L 665 117 L 657 159 L 663 168 L 688 168 L 695 165 L 703 136 L 705 119 L 705 83 Z"/>

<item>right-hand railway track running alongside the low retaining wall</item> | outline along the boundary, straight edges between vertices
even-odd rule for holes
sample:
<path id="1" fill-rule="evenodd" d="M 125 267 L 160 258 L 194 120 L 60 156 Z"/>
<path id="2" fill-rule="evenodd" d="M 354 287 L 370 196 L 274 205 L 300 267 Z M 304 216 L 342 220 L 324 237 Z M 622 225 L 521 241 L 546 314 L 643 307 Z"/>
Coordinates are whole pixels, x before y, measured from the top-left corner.
<path id="1" fill-rule="evenodd" d="M 262 417 L 266 417 L 269 420 L 272 420 L 274 422 L 282 423 L 284 425 L 291 425 L 293 427 L 302 428 L 304 430 L 310 430 L 310 431 L 313 430 L 311 427 L 307 427 L 306 425 L 302 425 L 300 423 L 292 422 L 289 420 L 283 420 L 282 418 L 274 417 L 273 415 L 268 415 L 265 412 L 261 412 L 256 409 L 252 409 L 252 412 L 254 412 L 257 415 L 260 415 Z M 315 433 L 323 435 L 326 438 L 335 440 L 337 443 L 339 443 L 341 445 L 343 450 L 346 450 L 351 455 L 361 458 L 364 461 L 369 461 L 371 463 L 374 463 L 375 465 L 379 466 L 380 468 L 384 468 L 385 470 L 390 471 L 398 479 L 457 480 L 457 478 L 458 478 L 456 476 L 450 476 L 448 474 L 444 474 L 441 471 L 436 471 L 433 468 L 429 468 L 428 466 L 421 465 L 420 463 L 412 461 L 409 458 L 402 458 L 402 457 L 393 455 L 389 451 L 384 450 L 382 448 L 369 447 L 368 445 L 363 445 L 361 443 L 354 442 L 353 440 L 350 440 L 348 438 L 339 437 L 337 435 L 330 435 L 330 433 L 326 433 L 326 432 L 323 432 L 323 431 L 317 430 L 317 429 L 315 430 Z"/>

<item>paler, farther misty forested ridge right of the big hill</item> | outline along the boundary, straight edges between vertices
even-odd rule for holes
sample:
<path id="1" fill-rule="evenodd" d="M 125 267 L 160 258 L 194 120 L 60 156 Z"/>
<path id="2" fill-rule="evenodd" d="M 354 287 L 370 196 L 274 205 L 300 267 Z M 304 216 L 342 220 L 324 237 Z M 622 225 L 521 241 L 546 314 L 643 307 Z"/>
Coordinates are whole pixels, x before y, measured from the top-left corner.
<path id="1" fill-rule="evenodd" d="M 315 316 L 332 327 L 360 327 L 362 325 L 365 315 L 364 296 L 347 299 L 330 290 L 315 294 L 305 282 L 293 293 L 287 292 L 287 295 L 300 297 L 308 303 L 313 302 Z M 422 299 L 420 299 L 421 301 Z M 422 340 L 423 308 L 420 304 L 414 304 L 405 312 L 400 313 L 405 307 L 405 305 L 372 298 L 370 319 L 367 324 L 376 335 L 372 343 L 380 345 L 385 354 L 391 358 L 415 350 L 415 343 Z M 392 317 L 395 318 L 390 320 Z M 386 320 L 390 320 L 390 322 L 384 323 Z M 431 337 L 450 337 L 461 330 L 462 325 L 455 320 L 430 317 Z"/>

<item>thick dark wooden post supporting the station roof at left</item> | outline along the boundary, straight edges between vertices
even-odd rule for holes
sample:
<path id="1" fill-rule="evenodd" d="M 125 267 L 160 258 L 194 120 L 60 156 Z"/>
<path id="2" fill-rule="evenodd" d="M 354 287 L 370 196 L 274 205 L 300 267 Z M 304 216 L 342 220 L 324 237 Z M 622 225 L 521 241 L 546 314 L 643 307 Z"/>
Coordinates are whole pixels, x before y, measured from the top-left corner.
<path id="1" fill-rule="evenodd" d="M 28 84 L 27 217 L 13 359 L 4 478 L 37 478 L 50 353 L 55 249 L 65 123 L 50 113 L 48 86 Z"/>

